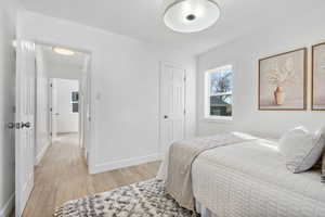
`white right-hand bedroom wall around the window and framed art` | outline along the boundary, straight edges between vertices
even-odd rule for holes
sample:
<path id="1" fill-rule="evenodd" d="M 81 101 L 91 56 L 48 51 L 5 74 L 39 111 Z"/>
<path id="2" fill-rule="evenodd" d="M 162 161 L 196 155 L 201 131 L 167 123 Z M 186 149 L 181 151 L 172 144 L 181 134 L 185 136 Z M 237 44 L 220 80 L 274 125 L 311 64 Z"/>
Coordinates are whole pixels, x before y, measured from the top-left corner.
<path id="1" fill-rule="evenodd" d="M 261 112 L 258 111 L 258 60 L 272 54 L 325 41 L 325 5 L 314 11 L 287 17 L 273 26 L 263 27 L 236 41 L 210 50 L 197 58 L 197 130 L 198 135 L 213 135 L 230 130 L 268 132 L 281 135 L 297 125 L 317 129 L 325 124 L 325 112 Z M 211 122 L 204 119 L 204 74 L 224 64 L 234 65 L 233 122 Z M 311 74 L 309 64 L 309 77 Z"/>

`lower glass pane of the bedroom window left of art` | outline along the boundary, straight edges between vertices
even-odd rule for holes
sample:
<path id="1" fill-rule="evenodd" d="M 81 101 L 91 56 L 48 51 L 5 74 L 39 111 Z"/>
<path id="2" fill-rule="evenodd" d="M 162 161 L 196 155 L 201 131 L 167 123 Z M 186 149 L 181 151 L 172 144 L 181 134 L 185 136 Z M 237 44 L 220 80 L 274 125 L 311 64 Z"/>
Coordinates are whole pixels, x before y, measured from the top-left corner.
<path id="1" fill-rule="evenodd" d="M 233 95 L 211 95 L 210 115 L 211 116 L 232 116 Z"/>

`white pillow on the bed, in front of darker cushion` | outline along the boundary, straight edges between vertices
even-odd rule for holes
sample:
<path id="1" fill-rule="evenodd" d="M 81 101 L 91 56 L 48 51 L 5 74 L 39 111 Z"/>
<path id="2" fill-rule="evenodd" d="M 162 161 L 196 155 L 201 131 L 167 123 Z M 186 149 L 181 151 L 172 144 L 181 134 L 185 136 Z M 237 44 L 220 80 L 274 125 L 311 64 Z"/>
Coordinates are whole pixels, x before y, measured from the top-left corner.
<path id="1" fill-rule="evenodd" d="M 325 146 L 324 129 L 311 133 L 304 127 L 298 127 L 283 135 L 278 150 L 285 155 L 290 171 L 306 171 L 320 159 Z"/>

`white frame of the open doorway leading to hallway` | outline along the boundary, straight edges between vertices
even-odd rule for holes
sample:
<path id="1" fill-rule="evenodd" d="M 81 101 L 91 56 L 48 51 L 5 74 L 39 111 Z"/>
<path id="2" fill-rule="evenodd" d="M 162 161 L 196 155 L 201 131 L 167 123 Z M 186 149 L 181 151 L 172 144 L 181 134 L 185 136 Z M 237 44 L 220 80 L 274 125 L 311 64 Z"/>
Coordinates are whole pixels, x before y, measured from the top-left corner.
<path id="1" fill-rule="evenodd" d="M 48 47 L 62 47 L 66 49 L 70 49 L 77 52 L 81 52 L 88 55 L 88 66 L 87 66 L 87 97 L 88 102 L 86 106 L 89 105 L 89 117 L 87 122 L 84 122 L 86 127 L 89 130 L 84 130 L 84 146 L 88 146 L 88 152 L 86 153 L 87 164 L 88 164 L 88 173 L 94 174 L 95 171 L 95 101 L 94 101 L 94 87 L 93 85 L 93 52 L 88 49 L 83 48 L 76 48 L 72 47 L 70 44 L 64 44 L 60 41 L 47 41 L 47 40 L 38 40 L 35 39 L 34 42 L 40 46 L 48 46 Z M 87 112 L 87 111 L 84 111 Z M 88 124 L 88 125 L 87 125 Z"/>

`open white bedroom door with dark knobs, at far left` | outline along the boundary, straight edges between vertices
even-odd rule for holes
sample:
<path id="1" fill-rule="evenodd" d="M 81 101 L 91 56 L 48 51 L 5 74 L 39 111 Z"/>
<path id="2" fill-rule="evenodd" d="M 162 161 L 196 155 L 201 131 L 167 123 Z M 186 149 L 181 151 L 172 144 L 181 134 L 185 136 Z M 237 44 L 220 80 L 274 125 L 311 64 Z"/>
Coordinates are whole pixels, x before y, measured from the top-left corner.
<path id="1" fill-rule="evenodd" d="M 16 43 L 15 214 L 22 216 L 34 188 L 35 43 Z"/>

